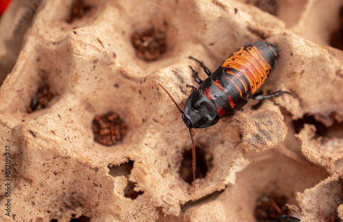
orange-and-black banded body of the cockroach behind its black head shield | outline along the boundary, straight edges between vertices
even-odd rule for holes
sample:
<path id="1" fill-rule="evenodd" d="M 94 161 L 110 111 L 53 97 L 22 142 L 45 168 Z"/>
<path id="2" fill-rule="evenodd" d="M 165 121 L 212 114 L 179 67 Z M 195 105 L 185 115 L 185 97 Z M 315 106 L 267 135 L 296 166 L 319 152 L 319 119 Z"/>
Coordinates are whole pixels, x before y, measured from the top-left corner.
<path id="1" fill-rule="evenodd" d="M 276 66 L 279 49 L 268 42 L 244 45 L 230 55 L 198 90 L 211 99 L 220 118 L 247 103 Z"/>

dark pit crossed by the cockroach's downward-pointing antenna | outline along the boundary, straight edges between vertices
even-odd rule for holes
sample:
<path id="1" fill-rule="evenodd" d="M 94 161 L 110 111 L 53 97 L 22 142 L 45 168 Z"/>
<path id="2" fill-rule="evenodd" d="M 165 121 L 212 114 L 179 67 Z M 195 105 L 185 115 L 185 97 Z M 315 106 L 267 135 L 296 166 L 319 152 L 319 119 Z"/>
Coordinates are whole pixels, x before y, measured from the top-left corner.
<path id="1" fill-rule="evenodd" d="M 211 165 L 211 162 L 206 161 L 204 149 L 196 147 L 196 179 L 204 178 Z M 185 182 L 189 184 L 193 182 L 191 149 L 183 152 L 179 173 L 180 177 L 185 180 Z"/>

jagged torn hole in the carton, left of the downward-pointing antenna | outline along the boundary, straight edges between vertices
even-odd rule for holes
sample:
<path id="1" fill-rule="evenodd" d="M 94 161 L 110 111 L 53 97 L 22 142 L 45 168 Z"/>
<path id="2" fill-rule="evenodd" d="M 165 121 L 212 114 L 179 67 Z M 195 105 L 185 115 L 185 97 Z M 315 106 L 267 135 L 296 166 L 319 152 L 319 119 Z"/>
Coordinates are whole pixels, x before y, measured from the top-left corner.
<path id="1" fill-rule="evenodd" d="M 130 199 L 136 199 L 139 195 L 142 195 L 142 191 L 135 191 L 134 186 L 136 186 L 137 183 L 131 182 L 128 178 L 131 173 L 131 170 L 133 169 L 134 162 L 130 160 L 127 163 L 120 164 L 119 166 L 113 166 L 112 164 L 108 165 L 108 169 L 110 169 L 110 175 L 113 177 L 126 177 L 128 181 L 128 185 L 123 189 L 124 197 L 130 198 Z"/>

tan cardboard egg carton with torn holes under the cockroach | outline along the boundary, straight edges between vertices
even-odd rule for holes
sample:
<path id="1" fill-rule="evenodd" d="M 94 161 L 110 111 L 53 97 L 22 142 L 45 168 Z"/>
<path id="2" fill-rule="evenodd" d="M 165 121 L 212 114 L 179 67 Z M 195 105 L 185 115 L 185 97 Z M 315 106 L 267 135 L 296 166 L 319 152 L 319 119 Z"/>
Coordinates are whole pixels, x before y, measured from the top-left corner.
<path id="1" fill-rule="evenodd" d="M 11 217 L 1 208 L 1 220 L 255 221 L 261 195 L 284 195 L 301 221 L 343 219 L 343 53 L 329 45 L 343 1 L 81 3 L 40 2 L 1 86 L 1 147 L 10 147 L 12 179 Z M 132 34 L 152 27 L 165 34 L 166 49 L 147 62 Z M 197 85 L 189 65 L 207 77 L 189 56 L 214 71 L 260 40 L 281 52 L 260 93 L 288 90 L 297 99 L 249 101 L 217 125 L 193 130 L 200 157 L 194 194 L 189 132 L 158 84 L 183 109 L 186 84 Z M 9 51 L 2 48 L 0 58 Z M 54 97 L 27 112 L 41 82 Z M 128 127 L 110 146 L 92 131 L 95 116 L 108 112 Z M 5 180 L 3 173 L 1 193 Z"/>

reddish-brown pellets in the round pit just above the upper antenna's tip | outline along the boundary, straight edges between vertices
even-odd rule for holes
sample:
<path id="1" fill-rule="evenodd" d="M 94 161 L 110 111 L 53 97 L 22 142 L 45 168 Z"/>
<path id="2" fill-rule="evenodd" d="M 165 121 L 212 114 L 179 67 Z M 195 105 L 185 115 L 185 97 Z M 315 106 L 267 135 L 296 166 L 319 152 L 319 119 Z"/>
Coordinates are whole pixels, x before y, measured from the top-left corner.
<path id="1" fill-rule="evenodd" d="M 143 33 L 134 32 L 131 42 L 137 56 L 147 62 L 157 60 L 167 49 L 165 32 L 155 27 Z"/>

